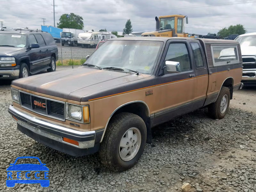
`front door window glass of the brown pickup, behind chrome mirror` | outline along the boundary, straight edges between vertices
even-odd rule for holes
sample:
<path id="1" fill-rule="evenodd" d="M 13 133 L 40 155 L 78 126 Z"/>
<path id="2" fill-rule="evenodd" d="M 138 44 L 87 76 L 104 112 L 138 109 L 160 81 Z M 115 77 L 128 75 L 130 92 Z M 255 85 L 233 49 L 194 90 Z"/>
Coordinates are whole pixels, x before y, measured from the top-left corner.
<path id="1" fill-rule="evenodd" d="M 180 62 L 181 71 L 191 70 L 188 49 L 185 43 L 171 43 L 164 59 L 164 62 L 166 61 Z"/>

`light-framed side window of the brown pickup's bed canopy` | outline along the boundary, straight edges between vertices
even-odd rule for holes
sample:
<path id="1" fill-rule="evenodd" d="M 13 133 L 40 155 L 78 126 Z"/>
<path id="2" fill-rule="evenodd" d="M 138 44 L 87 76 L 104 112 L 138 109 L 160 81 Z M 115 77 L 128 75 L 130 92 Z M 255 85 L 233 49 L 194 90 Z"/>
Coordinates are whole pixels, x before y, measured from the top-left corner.
<path id="1" fill-rule="evenodd" d="M 236 45 L 212 45 L 211 49 L 214 66 L 239 63 Z"/>

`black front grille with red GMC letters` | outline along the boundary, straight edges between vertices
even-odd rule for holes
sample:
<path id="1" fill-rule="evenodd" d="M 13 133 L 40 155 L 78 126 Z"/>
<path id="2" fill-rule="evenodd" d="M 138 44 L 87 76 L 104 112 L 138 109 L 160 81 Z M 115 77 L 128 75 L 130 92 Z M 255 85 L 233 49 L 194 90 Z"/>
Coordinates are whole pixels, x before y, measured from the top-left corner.
<path id="1" fill-rule="evenodd" d="M 30 111 L 64 121 L 65 102 L 20 91 L 21 106 Z"/>

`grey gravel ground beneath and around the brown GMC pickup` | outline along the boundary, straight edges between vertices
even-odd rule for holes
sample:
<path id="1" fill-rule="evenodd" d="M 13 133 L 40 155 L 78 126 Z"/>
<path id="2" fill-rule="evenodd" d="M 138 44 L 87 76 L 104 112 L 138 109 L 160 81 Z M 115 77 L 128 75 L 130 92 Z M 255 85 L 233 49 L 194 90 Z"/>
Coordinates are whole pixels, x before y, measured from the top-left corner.
<path id="1" fill-rule="evenodd" d="M 238 92 L 239 93 L 239 92 Z M 0 86 L 0 190 L 83 192 L 256 191 L 256 114 L 230 108 L 222 120 L 207 109 L 176 118 L 153 131 L 142 158 L 128 171 L 110 172 L 98 154 L 74 158 L 27 138 L 8 114 L 10 85 Z M 254 105 L 254 108 L 256 106 Z M 37 156 L 49 168 L 50 186 L 7 188 L 6 168 L 18 156 Z"/>

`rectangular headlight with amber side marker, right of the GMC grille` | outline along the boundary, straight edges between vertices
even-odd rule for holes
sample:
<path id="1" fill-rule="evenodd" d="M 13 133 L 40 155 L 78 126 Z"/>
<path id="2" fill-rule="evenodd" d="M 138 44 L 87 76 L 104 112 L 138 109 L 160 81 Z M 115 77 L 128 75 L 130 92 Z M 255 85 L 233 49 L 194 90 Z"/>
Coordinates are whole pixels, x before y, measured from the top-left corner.
<path id="1" fill-rule="evenodd" d="M 79 106 L 66 103 L 66 119 L 80 123 L 89 123 L 89 106 Z"/>

